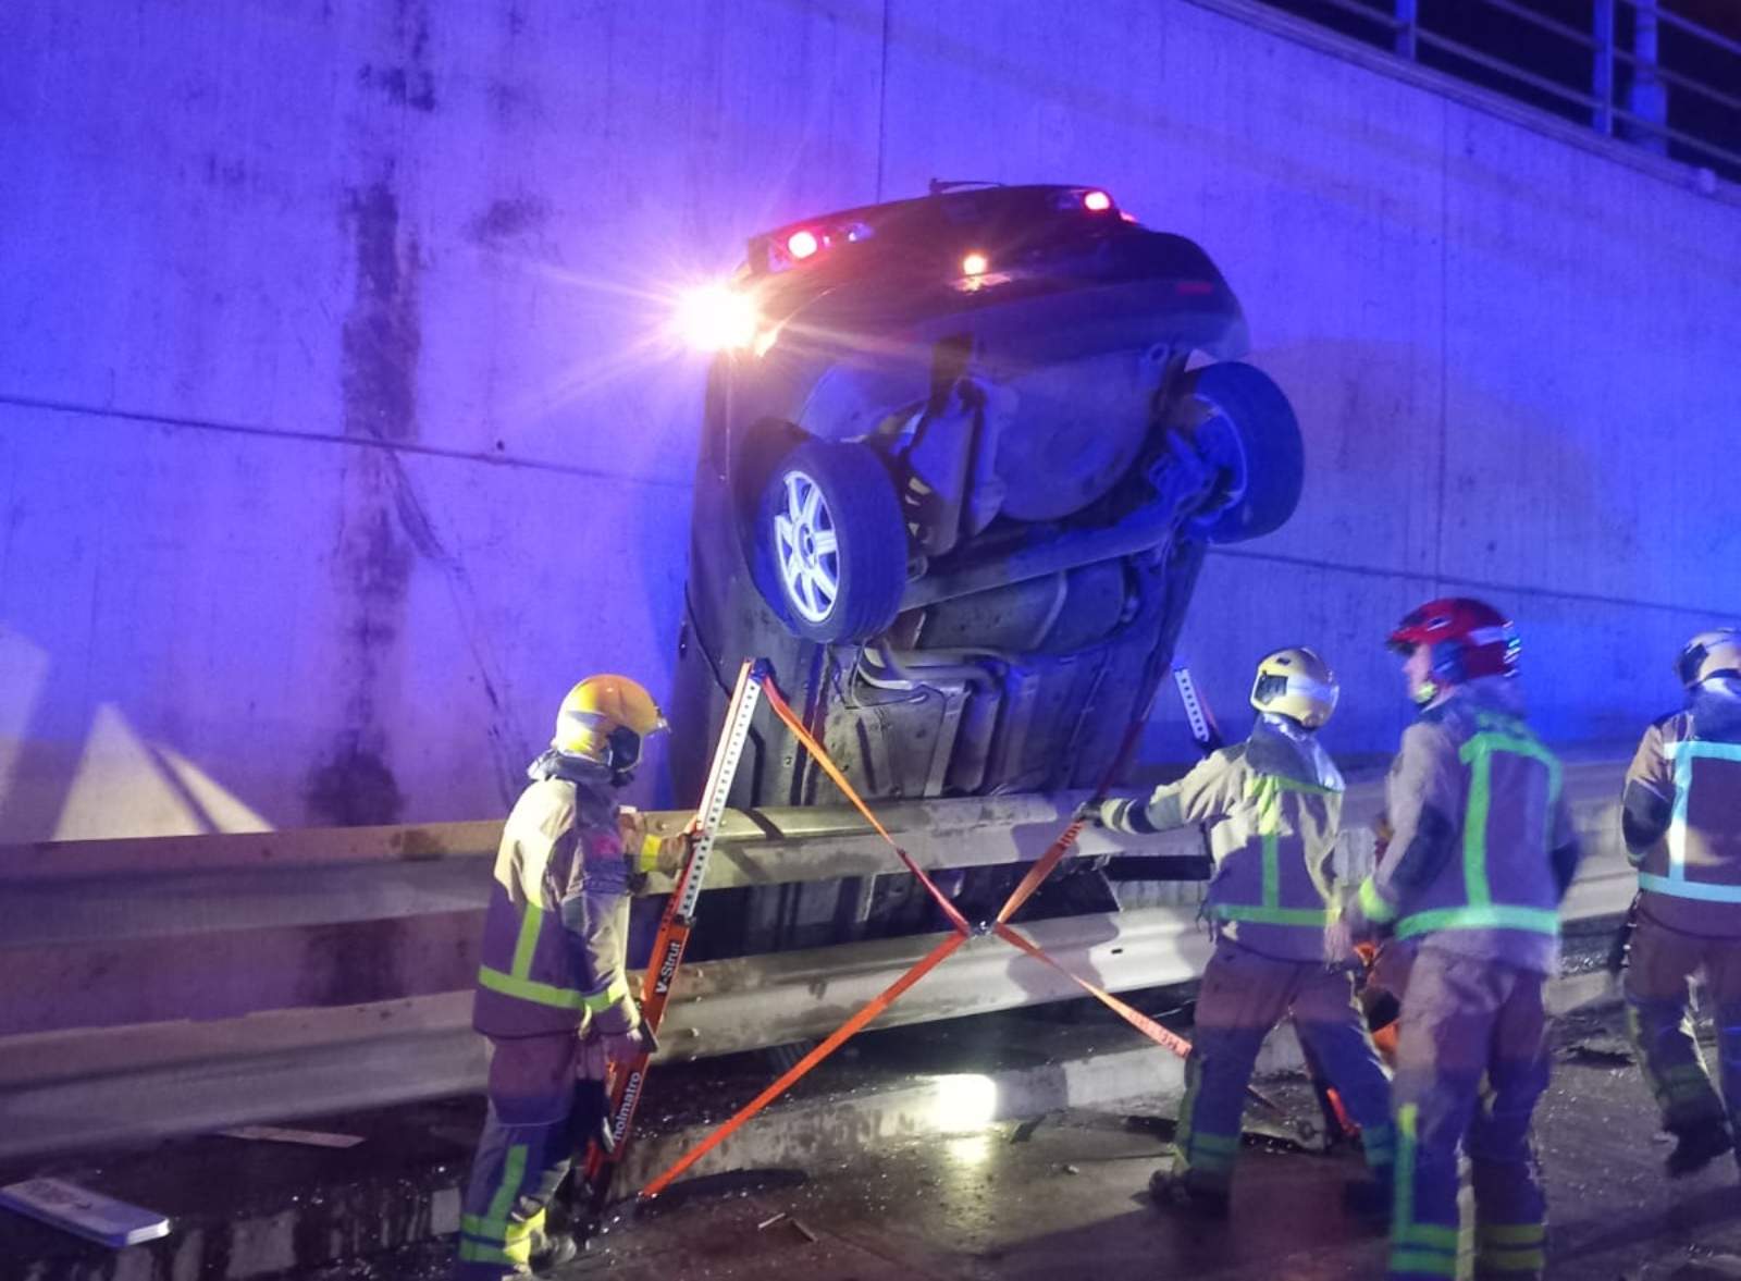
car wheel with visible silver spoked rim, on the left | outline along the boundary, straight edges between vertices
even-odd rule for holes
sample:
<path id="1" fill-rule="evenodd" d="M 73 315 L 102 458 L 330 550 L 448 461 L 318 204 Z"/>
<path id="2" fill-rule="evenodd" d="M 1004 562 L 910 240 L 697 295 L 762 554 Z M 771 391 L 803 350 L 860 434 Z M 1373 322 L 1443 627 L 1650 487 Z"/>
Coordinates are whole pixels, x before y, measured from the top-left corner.
<path id="1" fill-rule="evenodd" d="M 869 640 L 907 590 L 907 524 L 883 459 L 804 440 L 768 475 L 756 538 L 770 604 L 811 640 Z"/>

